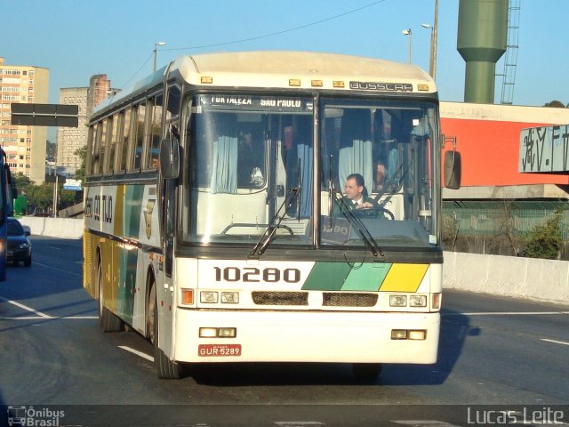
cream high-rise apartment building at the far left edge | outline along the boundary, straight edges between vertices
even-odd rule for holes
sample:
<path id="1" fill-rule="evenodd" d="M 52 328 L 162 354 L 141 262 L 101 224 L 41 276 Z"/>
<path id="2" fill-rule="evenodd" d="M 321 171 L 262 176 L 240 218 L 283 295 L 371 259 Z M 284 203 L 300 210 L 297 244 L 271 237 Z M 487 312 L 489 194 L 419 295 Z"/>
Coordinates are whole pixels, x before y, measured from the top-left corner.
<path id="1" fill-rule="evenodd" d="M 36 184 L 45 179 L 44 126 L 11 125 L 12 103 L 46 104 L 49 68 L 6 65 L 0 57 L 0 145 L 12 173 L 23 173 Z"/>

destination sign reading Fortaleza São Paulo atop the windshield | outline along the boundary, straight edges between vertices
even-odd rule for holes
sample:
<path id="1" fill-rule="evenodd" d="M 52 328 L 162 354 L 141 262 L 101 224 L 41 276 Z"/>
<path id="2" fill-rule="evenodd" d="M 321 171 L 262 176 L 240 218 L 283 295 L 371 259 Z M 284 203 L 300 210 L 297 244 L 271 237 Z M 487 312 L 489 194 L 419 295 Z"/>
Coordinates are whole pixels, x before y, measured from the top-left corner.
<path id="1" fill-rule="evenodd" d="M 306 112 L 312 111 L 314 102 L 294 97 L 216 94 L 200 96 L 200 105 L 209 109 Z"/>

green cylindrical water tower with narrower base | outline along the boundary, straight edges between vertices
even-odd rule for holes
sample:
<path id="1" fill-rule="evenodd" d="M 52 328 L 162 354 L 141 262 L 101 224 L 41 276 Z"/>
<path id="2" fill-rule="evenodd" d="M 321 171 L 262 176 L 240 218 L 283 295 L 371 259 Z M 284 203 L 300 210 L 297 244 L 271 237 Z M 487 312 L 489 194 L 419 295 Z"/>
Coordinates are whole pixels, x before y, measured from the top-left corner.
<path id="1" fill-rule="evenodd" d="M 457 48 L 466 61 L 465 102 L 493 103 L 496 62 L 507 38 L 508 0 L 461 0 Z"/>

